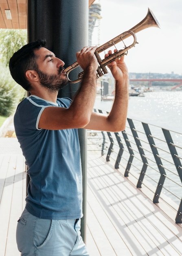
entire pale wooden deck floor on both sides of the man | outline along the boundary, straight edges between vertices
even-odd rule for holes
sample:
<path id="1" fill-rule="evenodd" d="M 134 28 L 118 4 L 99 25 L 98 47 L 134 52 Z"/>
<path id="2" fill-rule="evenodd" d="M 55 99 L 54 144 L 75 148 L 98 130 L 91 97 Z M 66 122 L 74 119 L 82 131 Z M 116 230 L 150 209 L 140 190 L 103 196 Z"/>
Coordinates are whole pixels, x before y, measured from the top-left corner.
<path id="1" fill-rule="evenodd" d="M 0 138 L 0 256 L 20 256 L 17 220 L 24 208 L 24 158 L 16 138 Z M 182 255 L 182 225 L 151 202 L 112 162 L 88 153 L 90 256 Z"/>

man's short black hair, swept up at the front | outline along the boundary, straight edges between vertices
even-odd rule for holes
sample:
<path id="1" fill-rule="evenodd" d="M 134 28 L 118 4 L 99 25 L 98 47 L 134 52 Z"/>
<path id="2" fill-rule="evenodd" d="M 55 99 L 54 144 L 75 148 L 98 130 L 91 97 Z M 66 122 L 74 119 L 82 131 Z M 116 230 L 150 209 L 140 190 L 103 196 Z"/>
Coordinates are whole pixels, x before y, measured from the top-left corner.
<path id="1" fill-rule="evenodd" d="M 38 70 L 36 63 L 37 56 L 35 49 L 46 46 L 46 39 L 39 39 L 33 43 L 24 45 L 21 49 L 13 54 L 9 61 L 9 70 L 13 79 L 19 83 L 26 91 L 31 89 L 31 84 L 26 79 L 27 70 Z"/>

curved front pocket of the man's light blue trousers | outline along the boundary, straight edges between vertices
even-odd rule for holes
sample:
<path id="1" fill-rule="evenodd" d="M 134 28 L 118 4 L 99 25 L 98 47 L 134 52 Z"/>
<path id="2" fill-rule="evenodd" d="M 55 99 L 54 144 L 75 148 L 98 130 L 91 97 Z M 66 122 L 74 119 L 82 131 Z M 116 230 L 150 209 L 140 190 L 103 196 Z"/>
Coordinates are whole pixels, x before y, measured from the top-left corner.
<path id="1" fill-rule="evenodd" d="M 34 245 L 40 248 L 49 240 L 53 230 L 53 220 L 37 218 L 34 229 Z"/>

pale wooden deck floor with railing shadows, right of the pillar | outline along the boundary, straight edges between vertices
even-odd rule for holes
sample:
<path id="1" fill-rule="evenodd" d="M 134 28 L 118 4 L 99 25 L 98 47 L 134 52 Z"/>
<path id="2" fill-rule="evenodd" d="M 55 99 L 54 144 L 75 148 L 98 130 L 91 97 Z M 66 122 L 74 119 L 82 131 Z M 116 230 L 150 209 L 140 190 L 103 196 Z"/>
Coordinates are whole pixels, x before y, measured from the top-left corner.
<path id="1" fill-rule="evenodd" d="M 94 256 L 182 255 L 182 226 L 103 157 L 88 159 L 87 225 Z M 90 246 L 91 245 L 91 246 Z"/>

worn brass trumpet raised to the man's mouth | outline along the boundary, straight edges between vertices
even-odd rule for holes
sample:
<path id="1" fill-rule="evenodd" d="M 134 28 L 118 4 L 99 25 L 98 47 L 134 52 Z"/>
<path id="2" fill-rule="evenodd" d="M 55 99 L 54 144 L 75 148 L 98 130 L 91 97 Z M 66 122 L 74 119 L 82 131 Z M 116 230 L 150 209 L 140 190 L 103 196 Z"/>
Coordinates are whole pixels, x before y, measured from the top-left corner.
<path id="1" fill-rule="evenodd" d="M 148 8 L 148 12 L 147 12 L 147 15 L 145 16 L 145 18 L 142 21 L 140 21 L 136 26 L 134 26 L 131 29 L 129 29 L 128 31 L 125 31 L 122 34 L 116 36 L 115 38 L 108 41 L 107 43 L 99 46 L 94 52 L 94 54 L 97 58 L 97 61 L 98 61 L 98 68 L 96 70 L 96 78 L 99 78 L 99 77 L 103 76 L 104 74 L 108 73 L 106 66 L 111 61 L 114 61 L 116 58 L 120 58 L 123 55 L 127 55 L 127 51 L 129 49 L 131 49 L 132 47 L 134 47 L 136 44 L 138 44 L 135 34 L 143 29 L 148 28 L 148 27 L 160 28 L 158 20 L 156 19 L 153 12 L 149 8 Z M 133 36 L 133 43 L 129 46 L 126 46 L 124 43 L 124 40 L 126 38 L 128 38 L 129 36 Z M 121 41 L 124 43 L 124 46 L 125 46 L 124 49 L 117 50 L 116 52 L 114 52 L 113 54 L 108 56 L 107 58 L 101 59 L 101 56 L 99 55 L 99 53 L 105 51 L 106 49 L 108 49 L 112 46 L 115 47 L 115 45 Z M 70 83 L 77 83 L 77 82 L 81 81 L 81 79 L 83 77 L 84 72 L 82 71 L 78 74 L 78 79 L 76 79 L 75 81 L 72 81 L 69 79 L 69 73 L 78 66 L 79 66 L 79 64 L 76 61 L 75 63 L 73 63 L 72 65 L 70 65 L 69 67 L 66 67 L 64 69 L 64 72 L 66 72 L 68 81 Z"/>

